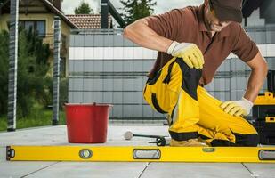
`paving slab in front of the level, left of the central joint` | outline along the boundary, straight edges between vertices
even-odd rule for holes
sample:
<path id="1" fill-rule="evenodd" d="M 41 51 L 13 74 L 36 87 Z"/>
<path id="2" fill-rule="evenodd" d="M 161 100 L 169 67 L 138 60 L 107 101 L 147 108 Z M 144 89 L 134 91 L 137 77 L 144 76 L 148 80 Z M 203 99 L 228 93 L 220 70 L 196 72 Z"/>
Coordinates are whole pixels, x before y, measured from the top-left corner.
<path id="1" fill-rule="evenodd" d="M 64 178 L 138 178 L 146 163 L 77 163 L 61 162 L 47 167 L 27 177 L 64 177 Z"/>

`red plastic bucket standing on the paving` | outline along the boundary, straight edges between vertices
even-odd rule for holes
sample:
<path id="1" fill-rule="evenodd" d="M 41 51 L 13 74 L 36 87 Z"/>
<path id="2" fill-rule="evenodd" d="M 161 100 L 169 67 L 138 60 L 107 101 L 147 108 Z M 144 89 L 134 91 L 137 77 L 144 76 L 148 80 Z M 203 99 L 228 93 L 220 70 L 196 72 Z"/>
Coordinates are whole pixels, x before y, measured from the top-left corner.
<path id="1" fill-rule="evenodd" d="M 109 104 L 65 104 L 68 141 L 103 143 L 107 140 Z"/>

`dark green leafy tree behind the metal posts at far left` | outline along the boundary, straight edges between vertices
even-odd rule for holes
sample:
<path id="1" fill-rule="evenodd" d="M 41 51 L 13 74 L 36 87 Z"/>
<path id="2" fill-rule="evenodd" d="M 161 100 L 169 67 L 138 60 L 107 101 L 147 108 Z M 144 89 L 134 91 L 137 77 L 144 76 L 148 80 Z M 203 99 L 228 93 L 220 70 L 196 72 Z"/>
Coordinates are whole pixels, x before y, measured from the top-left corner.
<path id="1" fill-rule="evenodd" d="M 7 113 L 9 34 L 0 33 L 0 115 Z M 31 30 L 20 30 L 18 50 L 17 111 L 26 117 L 38 101 L 44 106 L 52 100 L 52 77 L 47 77 L 50 64 L 48 44 Z"/>

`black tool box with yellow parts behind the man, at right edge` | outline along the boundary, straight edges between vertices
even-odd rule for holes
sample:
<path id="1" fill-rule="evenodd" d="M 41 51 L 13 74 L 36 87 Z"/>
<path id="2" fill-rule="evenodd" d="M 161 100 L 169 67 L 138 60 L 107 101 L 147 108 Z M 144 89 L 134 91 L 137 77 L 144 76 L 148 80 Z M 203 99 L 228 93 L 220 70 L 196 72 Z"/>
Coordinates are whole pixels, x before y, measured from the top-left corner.
<path id="1" fill-rule="evenodd" d="M 268 92 L 259 94 L 252 109 L 252 124 L 261 144 L 275 145 L 275 70 L 267 76 Z"/>

